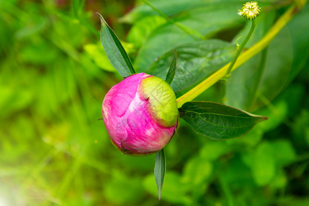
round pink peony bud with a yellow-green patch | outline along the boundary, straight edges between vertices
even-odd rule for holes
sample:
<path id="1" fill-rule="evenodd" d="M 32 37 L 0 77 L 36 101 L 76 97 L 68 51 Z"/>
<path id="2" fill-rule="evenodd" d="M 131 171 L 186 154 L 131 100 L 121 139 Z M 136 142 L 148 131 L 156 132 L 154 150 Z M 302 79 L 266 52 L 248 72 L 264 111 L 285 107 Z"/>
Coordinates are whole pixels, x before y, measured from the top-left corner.
<path id="1" fill-rule="evenodd" d="M 102 114 L 112 143 L 128 155 L 161 150 L 179 122 L 170 85 L 146 73 L 129 76 L 112 87 L 103 100 Z"/>

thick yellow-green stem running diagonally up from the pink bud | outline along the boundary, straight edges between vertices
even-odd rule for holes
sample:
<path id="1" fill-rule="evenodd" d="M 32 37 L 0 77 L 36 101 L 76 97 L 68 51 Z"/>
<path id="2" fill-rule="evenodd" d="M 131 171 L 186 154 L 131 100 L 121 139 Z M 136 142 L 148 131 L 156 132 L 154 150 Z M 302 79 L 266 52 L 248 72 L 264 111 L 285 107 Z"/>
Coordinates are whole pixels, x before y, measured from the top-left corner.
<path id="1" fill-rule="evenodd" d="M 235 67 L 231 68 L 231 71 L 240 67 L 240 65 L 244 64 L 244 62 L 247 62 L 247 60 L 261 52 L 262 49 L 264 49 L 269 43 L 271 43 L 273 38 L 275 38 L 275 36 L 282 30 L 282 28 L 288 23 L 288 21 L 293 18 L 297 11 L 297 6 L 291 6 L 277 20 L 275 25 L 271 27 L 271 30 L 269 30 L 267 34 L 260 41 L 258 41 L 258 43 L 253 45 L 253 47 L 248 49 L 246 52 L 240 54 L 238 60 L 235 62 Z M 194 100 L 194 98 L 198 97 L 198 95 L 203 93 L 203 91 L 214 85 L 220 79 L 224 78 L 226 76 L 229 65 L 230 64 L 225 65 L 224 67 L 213 73 L 211 76 L 209 76 L 207 79 L 203 80 L 203 82 L 196 85 L 196 87 L 179 97 L 177 99 L 177 106 L 180 108 L 181 106 L 183 106 L 183 104 L 185 104 L 185 102 L 190 102 L 191 100 Z"/>

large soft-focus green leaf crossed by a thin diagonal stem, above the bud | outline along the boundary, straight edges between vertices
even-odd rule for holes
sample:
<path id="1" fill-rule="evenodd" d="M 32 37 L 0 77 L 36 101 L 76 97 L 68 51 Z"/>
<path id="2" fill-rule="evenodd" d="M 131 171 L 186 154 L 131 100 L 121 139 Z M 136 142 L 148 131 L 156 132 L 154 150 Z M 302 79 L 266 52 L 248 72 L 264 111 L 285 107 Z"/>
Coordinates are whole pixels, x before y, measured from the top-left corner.
<path id="1" fill-rule="evenodd" d="M 245 21 L 244 18 L 239 18 L 240 16 L 235 12 L 240 5 L 239 2 L 207 3 L 205 6 L 185 10 L 173 20 L 207 37 L 227 28 L 236 27 Z M 167 22 L 153 30 L 141 45 L 134 62 L 135 68 L 137 71 L 146 71 L 159 56 L 180 45 L 194 42 L 196 40 L 192 36 L 174 23 Z M 179 52 L 178 49 L 177 52 Z"/>

